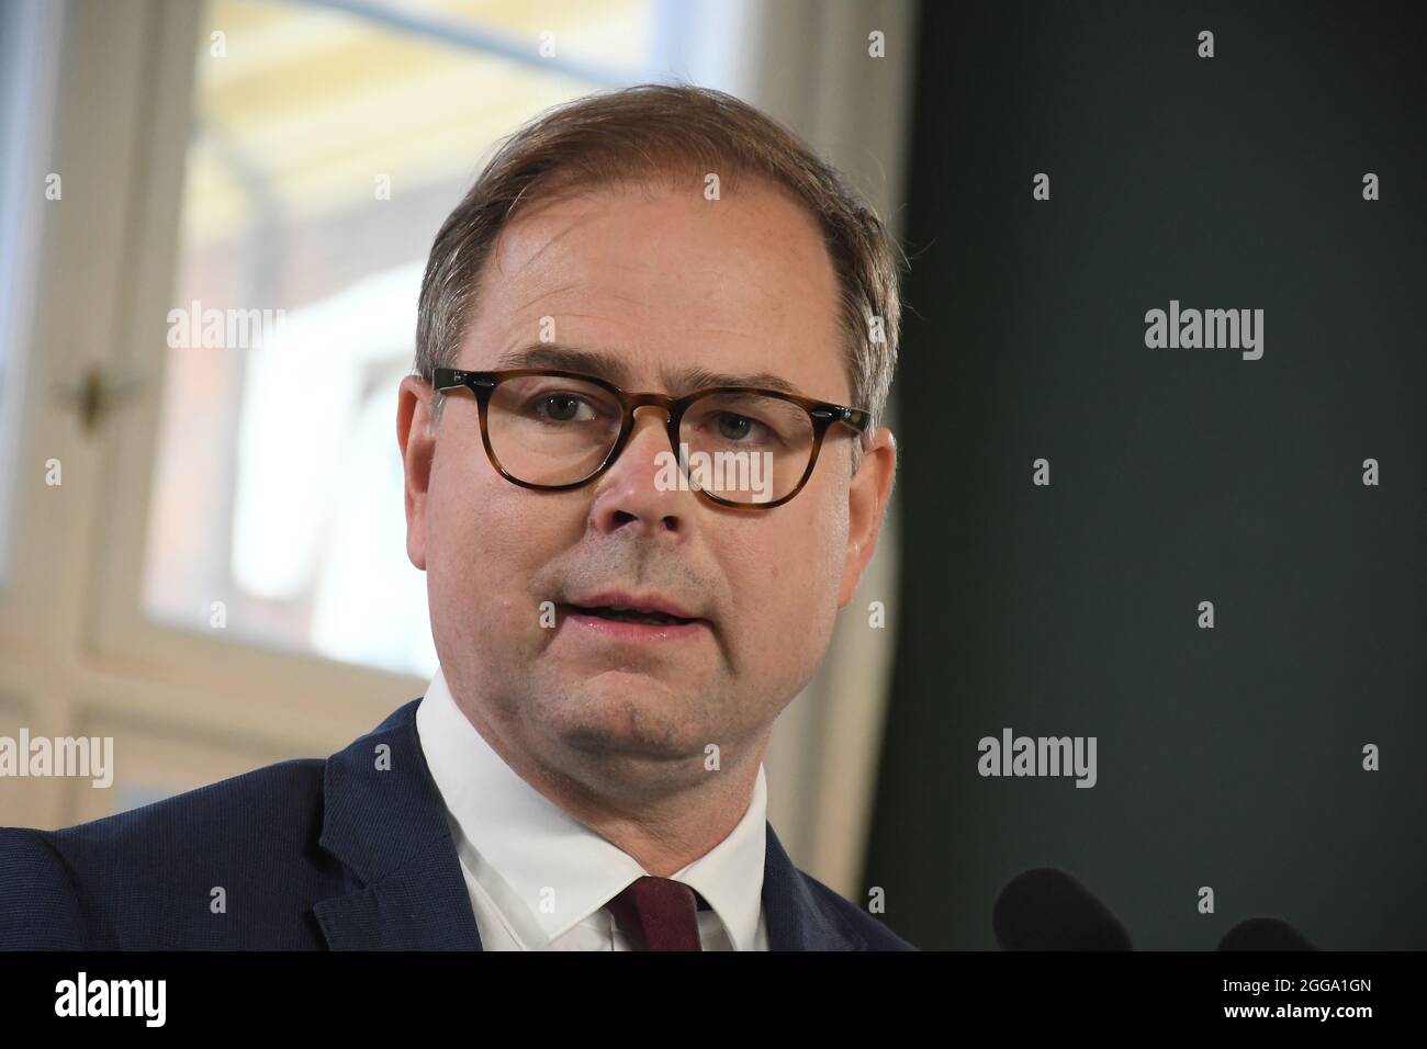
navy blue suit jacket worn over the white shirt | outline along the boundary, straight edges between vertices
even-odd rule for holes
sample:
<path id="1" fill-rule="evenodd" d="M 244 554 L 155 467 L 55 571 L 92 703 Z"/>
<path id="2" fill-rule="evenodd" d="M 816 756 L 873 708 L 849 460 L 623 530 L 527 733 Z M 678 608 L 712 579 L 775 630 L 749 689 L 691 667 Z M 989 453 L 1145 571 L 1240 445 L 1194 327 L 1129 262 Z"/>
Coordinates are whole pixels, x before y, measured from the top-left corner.
<path id="1" fill-rule="evenodd" d="M 63 831 L 0 829 L 0 949 L 479 951 L 418 702 L 327 761 Z M 773 951 L 915 949 L 798 871 L 771 825 L 763 909 Z"/>

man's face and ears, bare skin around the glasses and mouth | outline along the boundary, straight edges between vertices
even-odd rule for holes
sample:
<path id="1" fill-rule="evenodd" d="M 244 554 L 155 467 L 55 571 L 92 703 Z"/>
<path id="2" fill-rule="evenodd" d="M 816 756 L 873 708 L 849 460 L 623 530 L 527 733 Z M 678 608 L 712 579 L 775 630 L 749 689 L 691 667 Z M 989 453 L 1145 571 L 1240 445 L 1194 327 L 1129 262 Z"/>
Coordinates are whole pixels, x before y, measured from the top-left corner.
<path id="1" fill-rule="evenodd" d="M 773 373 L 839 404 L 852 395 L 815 220 L 759 183 L 718 201 L 605 188 L 521 213 L 487 263 L 455 367 L 497 370 L 541 343 L 618 360 L 628 374 L 605 378 L 625 390 L 681 395 L 664 377 L 701 367 Z M 890 434 L 876 434 L 852 478 L 856 435 L 835 425 L 796 498 L 741 511 L 661 490 L 656 454 L 671 447 L 659 410 L 638 411 L 605 474 L 551 492 L 495 472 L 469 394 L 448 398 L 434 435 L 430 400 L 424 382 L 404 382 L 408 554 L 427 571 L 452 694 L 507 759 L 605 791 L 691 782 L 709 744 L 725 768 L 761 759 L 873 552 Z M 571 614 L 611 592 L 662 598 L 702 622 L 621 631 Z"/>

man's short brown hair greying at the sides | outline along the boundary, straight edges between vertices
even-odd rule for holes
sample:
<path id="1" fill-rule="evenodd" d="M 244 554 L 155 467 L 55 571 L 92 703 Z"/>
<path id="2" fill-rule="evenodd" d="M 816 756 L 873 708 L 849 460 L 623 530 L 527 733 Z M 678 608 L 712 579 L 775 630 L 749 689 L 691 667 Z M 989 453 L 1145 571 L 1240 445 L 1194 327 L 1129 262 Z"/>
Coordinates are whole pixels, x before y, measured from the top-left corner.
<path id="1" fill-rule="evenodd" d="M 791 130 L 731 94 L 691 84 L 639 84 L 577 98 L 499 146 L 431 245 L 415 374 L 430 382 L 437 368 L 457 361 L 484 265 L 521 207 L 572 188 L 661 176 L 676 183 L 686 171 L 719 171 L 729 188 L 741 174 L 765 178 L 818 221 L 841 288 L 853 407 L 869 410 L 878 425 L 896 371 L 902 317 L 892 237 L 846 178 Z M 438 397 L 432 421 L 441 404 Z M 859 461 L 853 442 L 853 471 Z"/>

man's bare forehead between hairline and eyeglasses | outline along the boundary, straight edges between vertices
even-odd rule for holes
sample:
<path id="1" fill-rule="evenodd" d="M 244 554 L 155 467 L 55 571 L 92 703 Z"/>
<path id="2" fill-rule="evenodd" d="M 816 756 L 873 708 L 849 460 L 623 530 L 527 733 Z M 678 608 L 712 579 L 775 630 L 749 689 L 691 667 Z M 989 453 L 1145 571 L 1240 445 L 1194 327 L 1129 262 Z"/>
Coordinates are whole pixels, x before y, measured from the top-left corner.
<path id="1" fill-rule="evenodd" d="M 505 227 L 461 365 L 518 367 L 518 354 L 555 344 L 598 355 L 626 387 L 758 377 L 736 384 L 832 400 L 849 390 L 842 331 L 822 231 L 791 194 L 761 180 L 714 201 L 702 180 L 614 186 L 531 206 Z M 554 365 L 554 348 L 537 363 Z"/>

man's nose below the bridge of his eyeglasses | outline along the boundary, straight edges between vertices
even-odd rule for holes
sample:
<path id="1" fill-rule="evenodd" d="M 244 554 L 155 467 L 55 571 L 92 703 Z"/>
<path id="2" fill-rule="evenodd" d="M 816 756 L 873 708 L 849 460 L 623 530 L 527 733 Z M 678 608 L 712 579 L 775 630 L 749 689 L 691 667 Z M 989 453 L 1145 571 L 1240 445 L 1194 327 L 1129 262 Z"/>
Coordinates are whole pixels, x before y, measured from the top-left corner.
<path id="1" fill-rule="evenodd" d="M 681 491 L 668 418 L 664 408 L 652 404 L 635 408 L 629 440 L 595 487 L 591 520 L 601 531 L 646 535 L 686 531 L 689 501 L 695 495 Z"/>

